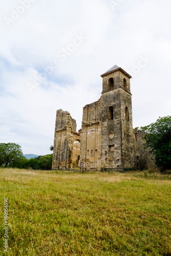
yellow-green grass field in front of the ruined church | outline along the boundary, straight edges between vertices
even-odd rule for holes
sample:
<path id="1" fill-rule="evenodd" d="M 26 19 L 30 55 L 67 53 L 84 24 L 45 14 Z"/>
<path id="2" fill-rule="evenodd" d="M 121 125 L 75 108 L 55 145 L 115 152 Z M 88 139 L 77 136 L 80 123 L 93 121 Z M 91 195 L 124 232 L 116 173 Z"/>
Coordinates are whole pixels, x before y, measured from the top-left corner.
<path id="1" fill-rule="evenodd" d="M 8 255 L 171 255 L 171 175 L 0 169 Z"/>

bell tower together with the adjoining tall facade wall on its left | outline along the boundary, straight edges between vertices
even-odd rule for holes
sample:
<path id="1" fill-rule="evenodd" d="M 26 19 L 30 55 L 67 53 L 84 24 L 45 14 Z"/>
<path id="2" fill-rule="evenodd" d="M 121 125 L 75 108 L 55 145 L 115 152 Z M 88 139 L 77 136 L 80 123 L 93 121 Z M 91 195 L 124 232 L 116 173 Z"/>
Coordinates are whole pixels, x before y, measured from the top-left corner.
<path id="1" fill-rule="evenodd" d="M 134 165 L 131 76 L 117 67 L 102 78 L 102 96 L 83 108 L 80 160 L 85 169 L 131 168 Z"/>

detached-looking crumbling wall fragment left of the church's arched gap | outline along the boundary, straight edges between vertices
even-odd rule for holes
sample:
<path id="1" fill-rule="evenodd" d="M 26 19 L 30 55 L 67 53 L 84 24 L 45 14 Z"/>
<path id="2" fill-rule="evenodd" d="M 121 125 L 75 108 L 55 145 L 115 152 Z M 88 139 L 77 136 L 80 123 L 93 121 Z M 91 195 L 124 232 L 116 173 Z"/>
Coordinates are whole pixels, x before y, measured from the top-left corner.
<path id="1" fill-rule="evenodd" d="M 73 167 L 73 147 L 76 140 L 80 140 L 76 132 L 76 121 L 69 112 L 57 110 L 52 169 Z M 79 151 L 77 150 L 78 154 Z"/>

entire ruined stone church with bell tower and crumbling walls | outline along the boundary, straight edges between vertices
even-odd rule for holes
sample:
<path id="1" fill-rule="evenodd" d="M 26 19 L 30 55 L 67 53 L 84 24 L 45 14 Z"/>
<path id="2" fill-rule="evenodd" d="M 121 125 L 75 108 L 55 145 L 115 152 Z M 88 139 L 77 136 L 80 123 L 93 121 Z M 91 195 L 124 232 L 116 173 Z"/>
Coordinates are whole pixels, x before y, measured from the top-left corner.
<path id="1" fill-rule="evenodd" d="M 130 79 L 122 68 L 101 75 L 98 101 L 83 107 L 82 127 L 67 111 L 57 110 L 52 169 L 122 170 L 154 165 L 144 150 L 144 134 L 133 130 Z"/>

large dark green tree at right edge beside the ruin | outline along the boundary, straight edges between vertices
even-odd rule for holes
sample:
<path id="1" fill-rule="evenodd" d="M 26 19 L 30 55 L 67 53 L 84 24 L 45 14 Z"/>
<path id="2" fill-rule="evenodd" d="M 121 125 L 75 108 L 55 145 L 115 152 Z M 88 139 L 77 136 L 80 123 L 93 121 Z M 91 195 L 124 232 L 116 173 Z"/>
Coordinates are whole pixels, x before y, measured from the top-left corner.
<path id="1" fill-rule="evenodd" d="M 171 116 L 159 117 L 141 130 L 146 133 L 145 147 L 151 148 L 156 165 L 164 170 L 171 169 Z"/>

